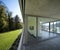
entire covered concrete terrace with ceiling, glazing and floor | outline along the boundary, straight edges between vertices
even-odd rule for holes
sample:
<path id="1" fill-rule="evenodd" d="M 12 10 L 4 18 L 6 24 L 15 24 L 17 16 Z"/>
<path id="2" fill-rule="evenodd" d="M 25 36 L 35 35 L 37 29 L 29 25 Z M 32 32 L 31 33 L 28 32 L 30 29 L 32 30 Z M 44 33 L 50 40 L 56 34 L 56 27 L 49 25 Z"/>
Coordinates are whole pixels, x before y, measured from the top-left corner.
<path id="1" fill-rule="evenodd" d="M 60 50 L 60 0 L 19 0 L 24 22 L 18 50 Z"/>

